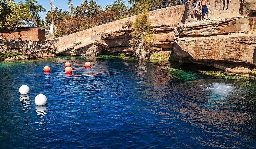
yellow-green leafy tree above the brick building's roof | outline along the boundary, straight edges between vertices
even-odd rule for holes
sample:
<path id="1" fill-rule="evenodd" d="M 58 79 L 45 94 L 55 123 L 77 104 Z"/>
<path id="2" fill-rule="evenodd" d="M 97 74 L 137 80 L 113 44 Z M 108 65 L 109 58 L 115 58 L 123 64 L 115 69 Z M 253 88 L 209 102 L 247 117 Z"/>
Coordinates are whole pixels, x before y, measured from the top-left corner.
<path id="1" fill-rule="evenodd" d="M 6 18 L 5 23 L 2 21 L 0 22 L 1 26 L 5 26 L 9 30 L 13 31 L 15 30 L 16 25 L 25 24 L 23 20 L 31 19 L 28 7 L 26 7 L 26 5 L 24 5 L 22 2 L 20 2 L 18 5 L 15 5 L 15 2 L 12 0 L 8 2 L 8 6 L 13 13 L 10 14 L 8 18 Z"/>

